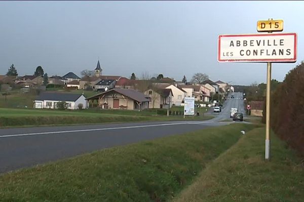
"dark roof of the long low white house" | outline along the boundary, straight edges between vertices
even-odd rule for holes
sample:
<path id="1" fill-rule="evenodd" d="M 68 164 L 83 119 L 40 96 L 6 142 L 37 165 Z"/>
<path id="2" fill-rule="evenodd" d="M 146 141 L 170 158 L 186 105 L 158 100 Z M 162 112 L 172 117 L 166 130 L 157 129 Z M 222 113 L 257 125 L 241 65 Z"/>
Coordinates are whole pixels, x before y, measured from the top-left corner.
<path id="1" fill-rule="evenodd" d="M 73 93 L 59 93 L 59 92 L 42 92 L 36 97 L 35 100 L 54 100 L 75 102 L 82 94 Z"/>

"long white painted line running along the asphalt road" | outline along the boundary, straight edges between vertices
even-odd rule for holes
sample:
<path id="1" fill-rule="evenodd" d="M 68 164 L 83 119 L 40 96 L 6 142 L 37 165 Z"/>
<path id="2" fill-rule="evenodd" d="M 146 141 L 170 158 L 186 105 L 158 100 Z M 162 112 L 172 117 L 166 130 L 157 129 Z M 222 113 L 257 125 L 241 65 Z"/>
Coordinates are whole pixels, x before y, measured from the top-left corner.
<path id="1" fill-rule="evenodd" d="M 17 136 L 30 136 L 30 135 L 59 134 L 59 133 L 73 133 L 73 132 L 101 131 L 101 130 L 118 130 L 118 129 L 129 129 L 129 128 L 146 128 L 146 127 L 182 125 L 182 124 L 201 124 L 201 123 L 203 123 L 203 122 L 179 122 L 179 123 L 143 125 L 143 126 L 124 126 L 124 127 L 114 127 L 114 128 L 95 128 L 95 129 L 83 129 L 83 130 L 63 130 L 63 131 L 52 131 L 52 132 L 37 132 L 37 133 L 23 133 L 23 134 L 12 134 L 12 135 L 0 135 L 0 138 L 3 138 L 3 137 L 17 137 Z"/>

